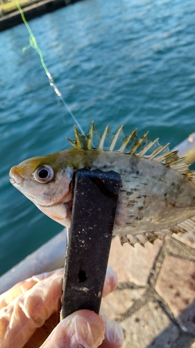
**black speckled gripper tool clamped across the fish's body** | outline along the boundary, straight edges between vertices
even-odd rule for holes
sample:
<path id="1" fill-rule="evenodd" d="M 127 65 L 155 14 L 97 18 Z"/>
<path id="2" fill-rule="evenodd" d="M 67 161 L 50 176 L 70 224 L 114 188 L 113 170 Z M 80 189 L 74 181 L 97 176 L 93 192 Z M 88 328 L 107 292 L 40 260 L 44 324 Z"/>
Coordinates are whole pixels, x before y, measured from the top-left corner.
<path id="1" fill-rule="evenodd" d="M 114 171 L 76 173 L 61 319 L 80 309 L 99 313 L 120 187 Z"/>

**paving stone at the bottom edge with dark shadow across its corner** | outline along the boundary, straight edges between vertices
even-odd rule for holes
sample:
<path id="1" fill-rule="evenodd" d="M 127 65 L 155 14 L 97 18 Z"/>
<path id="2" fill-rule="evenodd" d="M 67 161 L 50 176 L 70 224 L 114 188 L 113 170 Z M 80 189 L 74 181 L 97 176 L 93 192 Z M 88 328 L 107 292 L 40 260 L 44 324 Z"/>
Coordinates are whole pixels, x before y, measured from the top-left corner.
<path id="1" fill-rule="evenodd" d="M 169 348 L 180 336 L 158 302 L 150 301 L 120 323 L 124 329 L 123 348 Z"/>

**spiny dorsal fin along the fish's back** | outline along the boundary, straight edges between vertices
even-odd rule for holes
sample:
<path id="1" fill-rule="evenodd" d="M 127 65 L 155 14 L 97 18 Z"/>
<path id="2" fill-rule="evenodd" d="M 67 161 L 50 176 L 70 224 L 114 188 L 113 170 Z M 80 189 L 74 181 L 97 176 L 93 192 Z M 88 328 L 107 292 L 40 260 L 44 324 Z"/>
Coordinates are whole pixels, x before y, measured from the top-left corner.
<path id="1" fill-rule="evenodd" d="M 109 125 L 107 125 L 103 134 L 101 134 L 92 122 L 89 134 L 81 134 L 74 126 L 74 135 L 75 141 L 68 138 L 67 140 L 76 150 L 117 151 L 139 158 L 144 157 L 178 171 L 195 184 L 195 172 L 189 170 L 189 166 L 185 163 L 185 157 L 178 157 L 178 151 L 171 152 L 169 143 L 161 146 L 158 139 L 151 141 L 149 132 L 146 132 L 139 139 L 136 129 L 129 136 L 126 136 L 123 126 L 119 127 L 116 134 L 112 134 Z"/>

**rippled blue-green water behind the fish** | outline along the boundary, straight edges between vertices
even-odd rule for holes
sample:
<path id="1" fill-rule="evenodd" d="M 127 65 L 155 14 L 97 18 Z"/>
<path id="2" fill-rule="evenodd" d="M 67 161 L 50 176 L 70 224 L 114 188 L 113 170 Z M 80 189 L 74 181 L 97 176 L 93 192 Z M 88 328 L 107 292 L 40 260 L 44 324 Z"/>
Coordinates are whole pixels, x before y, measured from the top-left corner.
<path id="1" fill-rule="evenodd" d="M 85 132 L 124 124 L 171 147 L 195 132 L 194 0 L 85 0 L 29 24 Z M 0 274 L 62 230 L 12 187 L 10 167 L 74 138 L 28 44 L 24 24 L 0 33 Z"/>

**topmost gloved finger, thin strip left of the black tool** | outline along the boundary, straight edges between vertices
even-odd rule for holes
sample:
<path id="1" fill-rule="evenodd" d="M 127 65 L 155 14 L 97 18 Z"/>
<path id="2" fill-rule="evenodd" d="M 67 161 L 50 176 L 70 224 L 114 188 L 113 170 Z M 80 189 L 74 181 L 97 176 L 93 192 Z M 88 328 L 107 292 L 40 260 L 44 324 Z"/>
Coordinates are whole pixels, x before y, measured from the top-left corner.
<path id="1" fill-rule="evenodd" d="M 41 280 L 44 280 L 46 278 L 49 278 L 50 276 L 54 276 L 56 274 L 62 274 L 63 269 L 58 269 L 57 271 L 51 271 L 39 274 L 37 276 L 32 276 L 31 278 L 28 278 L 26 280 L 22 280 L 21 282 L 17 283 L 13 287 L 11 287 L 10 290 L 4 292 L 0 296 L 0 309 L 7 306 L 8 303 L 10 303 L 12 300 L 16 299 L 17 296 L 24 294 L 24 292 L 28 291 L 33 287 L 35 284 L 39 283 Z"/>

